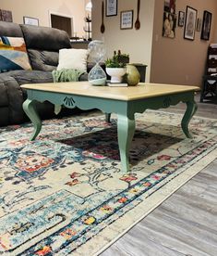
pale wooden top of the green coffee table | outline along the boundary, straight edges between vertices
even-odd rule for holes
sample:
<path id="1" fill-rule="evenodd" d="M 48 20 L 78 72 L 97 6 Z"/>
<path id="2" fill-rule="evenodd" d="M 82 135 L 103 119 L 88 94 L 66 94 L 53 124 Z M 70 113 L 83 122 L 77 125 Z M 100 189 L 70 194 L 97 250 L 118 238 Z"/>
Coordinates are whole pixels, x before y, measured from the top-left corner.
<path id="1" fill-rule="evenodd" d="M 135 100 L 154 96 L 199 91 L 199 87 L 197 86 L 163 83 L 139 83 L 137 86 L 127 87 L 94 86 L 89 82 L 29 83 L 23 84 L 21 87 L 30 90 L 112 98 L 117 100 Z"/>

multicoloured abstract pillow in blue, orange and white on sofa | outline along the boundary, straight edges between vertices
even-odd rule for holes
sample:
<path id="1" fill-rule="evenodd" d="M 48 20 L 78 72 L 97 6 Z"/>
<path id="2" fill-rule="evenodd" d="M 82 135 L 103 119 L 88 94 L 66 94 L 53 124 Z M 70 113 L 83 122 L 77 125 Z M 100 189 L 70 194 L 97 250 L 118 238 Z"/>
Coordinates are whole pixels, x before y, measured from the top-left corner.
<path id="1" fill-rule="evenodd" d="M 27 49 L 22 37 L 0 37 L 0 72 L 31 70 Z"/>

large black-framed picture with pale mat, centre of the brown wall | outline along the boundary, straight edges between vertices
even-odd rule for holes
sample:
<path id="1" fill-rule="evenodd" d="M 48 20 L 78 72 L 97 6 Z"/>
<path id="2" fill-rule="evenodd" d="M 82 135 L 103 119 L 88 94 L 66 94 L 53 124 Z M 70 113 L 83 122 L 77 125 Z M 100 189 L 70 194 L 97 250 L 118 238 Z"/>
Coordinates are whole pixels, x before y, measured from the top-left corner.
<path id="1" fill-rule="evenodd" d="M 184 38 L 187 40 L 193 41 L 195 39 L 197 15 L 198 11 L 195 8 L 187 6 L 186 23 L 184 30 Z"/>

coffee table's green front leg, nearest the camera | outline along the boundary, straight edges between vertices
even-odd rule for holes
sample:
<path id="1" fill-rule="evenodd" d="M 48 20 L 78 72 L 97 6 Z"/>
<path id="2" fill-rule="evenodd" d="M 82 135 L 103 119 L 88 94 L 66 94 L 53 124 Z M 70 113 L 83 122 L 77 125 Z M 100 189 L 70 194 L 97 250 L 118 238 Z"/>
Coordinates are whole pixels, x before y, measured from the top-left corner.
<path id="1" fill-rule="evenodd" d="M 129 147 L 135 132 L 135 119 L 127 116 L 118 115 L 117 117 L 117 136 L 121 159 L 121 170 L 129 171 Z"/>

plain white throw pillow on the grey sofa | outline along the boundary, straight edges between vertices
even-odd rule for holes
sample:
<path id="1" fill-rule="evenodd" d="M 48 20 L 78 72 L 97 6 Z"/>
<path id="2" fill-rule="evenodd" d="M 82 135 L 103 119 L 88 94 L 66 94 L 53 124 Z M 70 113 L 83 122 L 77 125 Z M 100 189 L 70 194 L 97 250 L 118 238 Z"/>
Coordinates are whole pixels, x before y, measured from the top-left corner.
<path id="1" fill-rule="evenodd" d="M 60 49 L 57 70 L 74 69 L 87 72 L 88 54 L 86 49 Z"/>

